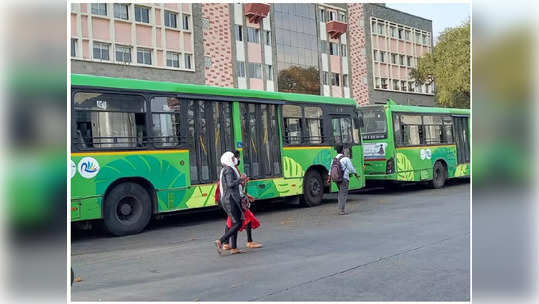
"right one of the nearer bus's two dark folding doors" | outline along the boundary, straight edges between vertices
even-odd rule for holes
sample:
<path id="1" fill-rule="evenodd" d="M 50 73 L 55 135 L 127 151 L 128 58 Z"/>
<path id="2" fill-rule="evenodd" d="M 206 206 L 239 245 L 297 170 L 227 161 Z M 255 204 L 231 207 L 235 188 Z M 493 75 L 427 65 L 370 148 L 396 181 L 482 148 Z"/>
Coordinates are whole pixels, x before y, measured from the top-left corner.
<path id="1" fill-rule="evenodd" d="M 240 103 L 243 166 L 252 179 L 281 176 L 276 104 Z"/>

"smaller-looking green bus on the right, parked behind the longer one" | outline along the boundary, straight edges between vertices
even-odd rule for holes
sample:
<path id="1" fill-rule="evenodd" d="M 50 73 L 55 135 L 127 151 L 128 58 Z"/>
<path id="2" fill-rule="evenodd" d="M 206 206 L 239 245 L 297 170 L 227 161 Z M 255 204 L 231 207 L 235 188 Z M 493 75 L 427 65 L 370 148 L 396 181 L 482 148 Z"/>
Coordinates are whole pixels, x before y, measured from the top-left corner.
<path id="1" fill-rule="evenodd" d="M 367 185 L 470 176 L 469 109 L 398 105 L 360 107 Z"/>

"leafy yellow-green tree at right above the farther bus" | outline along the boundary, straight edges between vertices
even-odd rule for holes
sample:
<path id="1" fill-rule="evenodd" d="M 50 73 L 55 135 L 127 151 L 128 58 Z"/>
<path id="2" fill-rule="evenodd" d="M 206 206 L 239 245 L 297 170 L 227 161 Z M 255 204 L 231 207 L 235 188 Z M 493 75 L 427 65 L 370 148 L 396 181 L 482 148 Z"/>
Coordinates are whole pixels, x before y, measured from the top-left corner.
<path id="1" fill-rule="evenodd" d="M 431 53 L 418 59 L 410 76 L 418 84 L 434 81 L 438 103 L 470 107 L 470 21 L 445 29 Z"/>

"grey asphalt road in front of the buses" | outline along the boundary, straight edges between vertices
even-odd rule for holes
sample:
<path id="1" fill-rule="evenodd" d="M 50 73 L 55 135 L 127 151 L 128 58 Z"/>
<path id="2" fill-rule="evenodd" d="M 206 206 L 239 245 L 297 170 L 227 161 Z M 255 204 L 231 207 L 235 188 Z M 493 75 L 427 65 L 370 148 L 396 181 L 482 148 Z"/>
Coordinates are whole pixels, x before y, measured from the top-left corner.
<path id="1" fill-rule="evenodd" d="M 264 248 L 218 256 L 218 211 L 114 238 L 73 231 L 73 301 L 469 301 L 470 187 L 453 181 L 254 208 Z M 245 233 L 239 245 L 245 247 Z"/>

